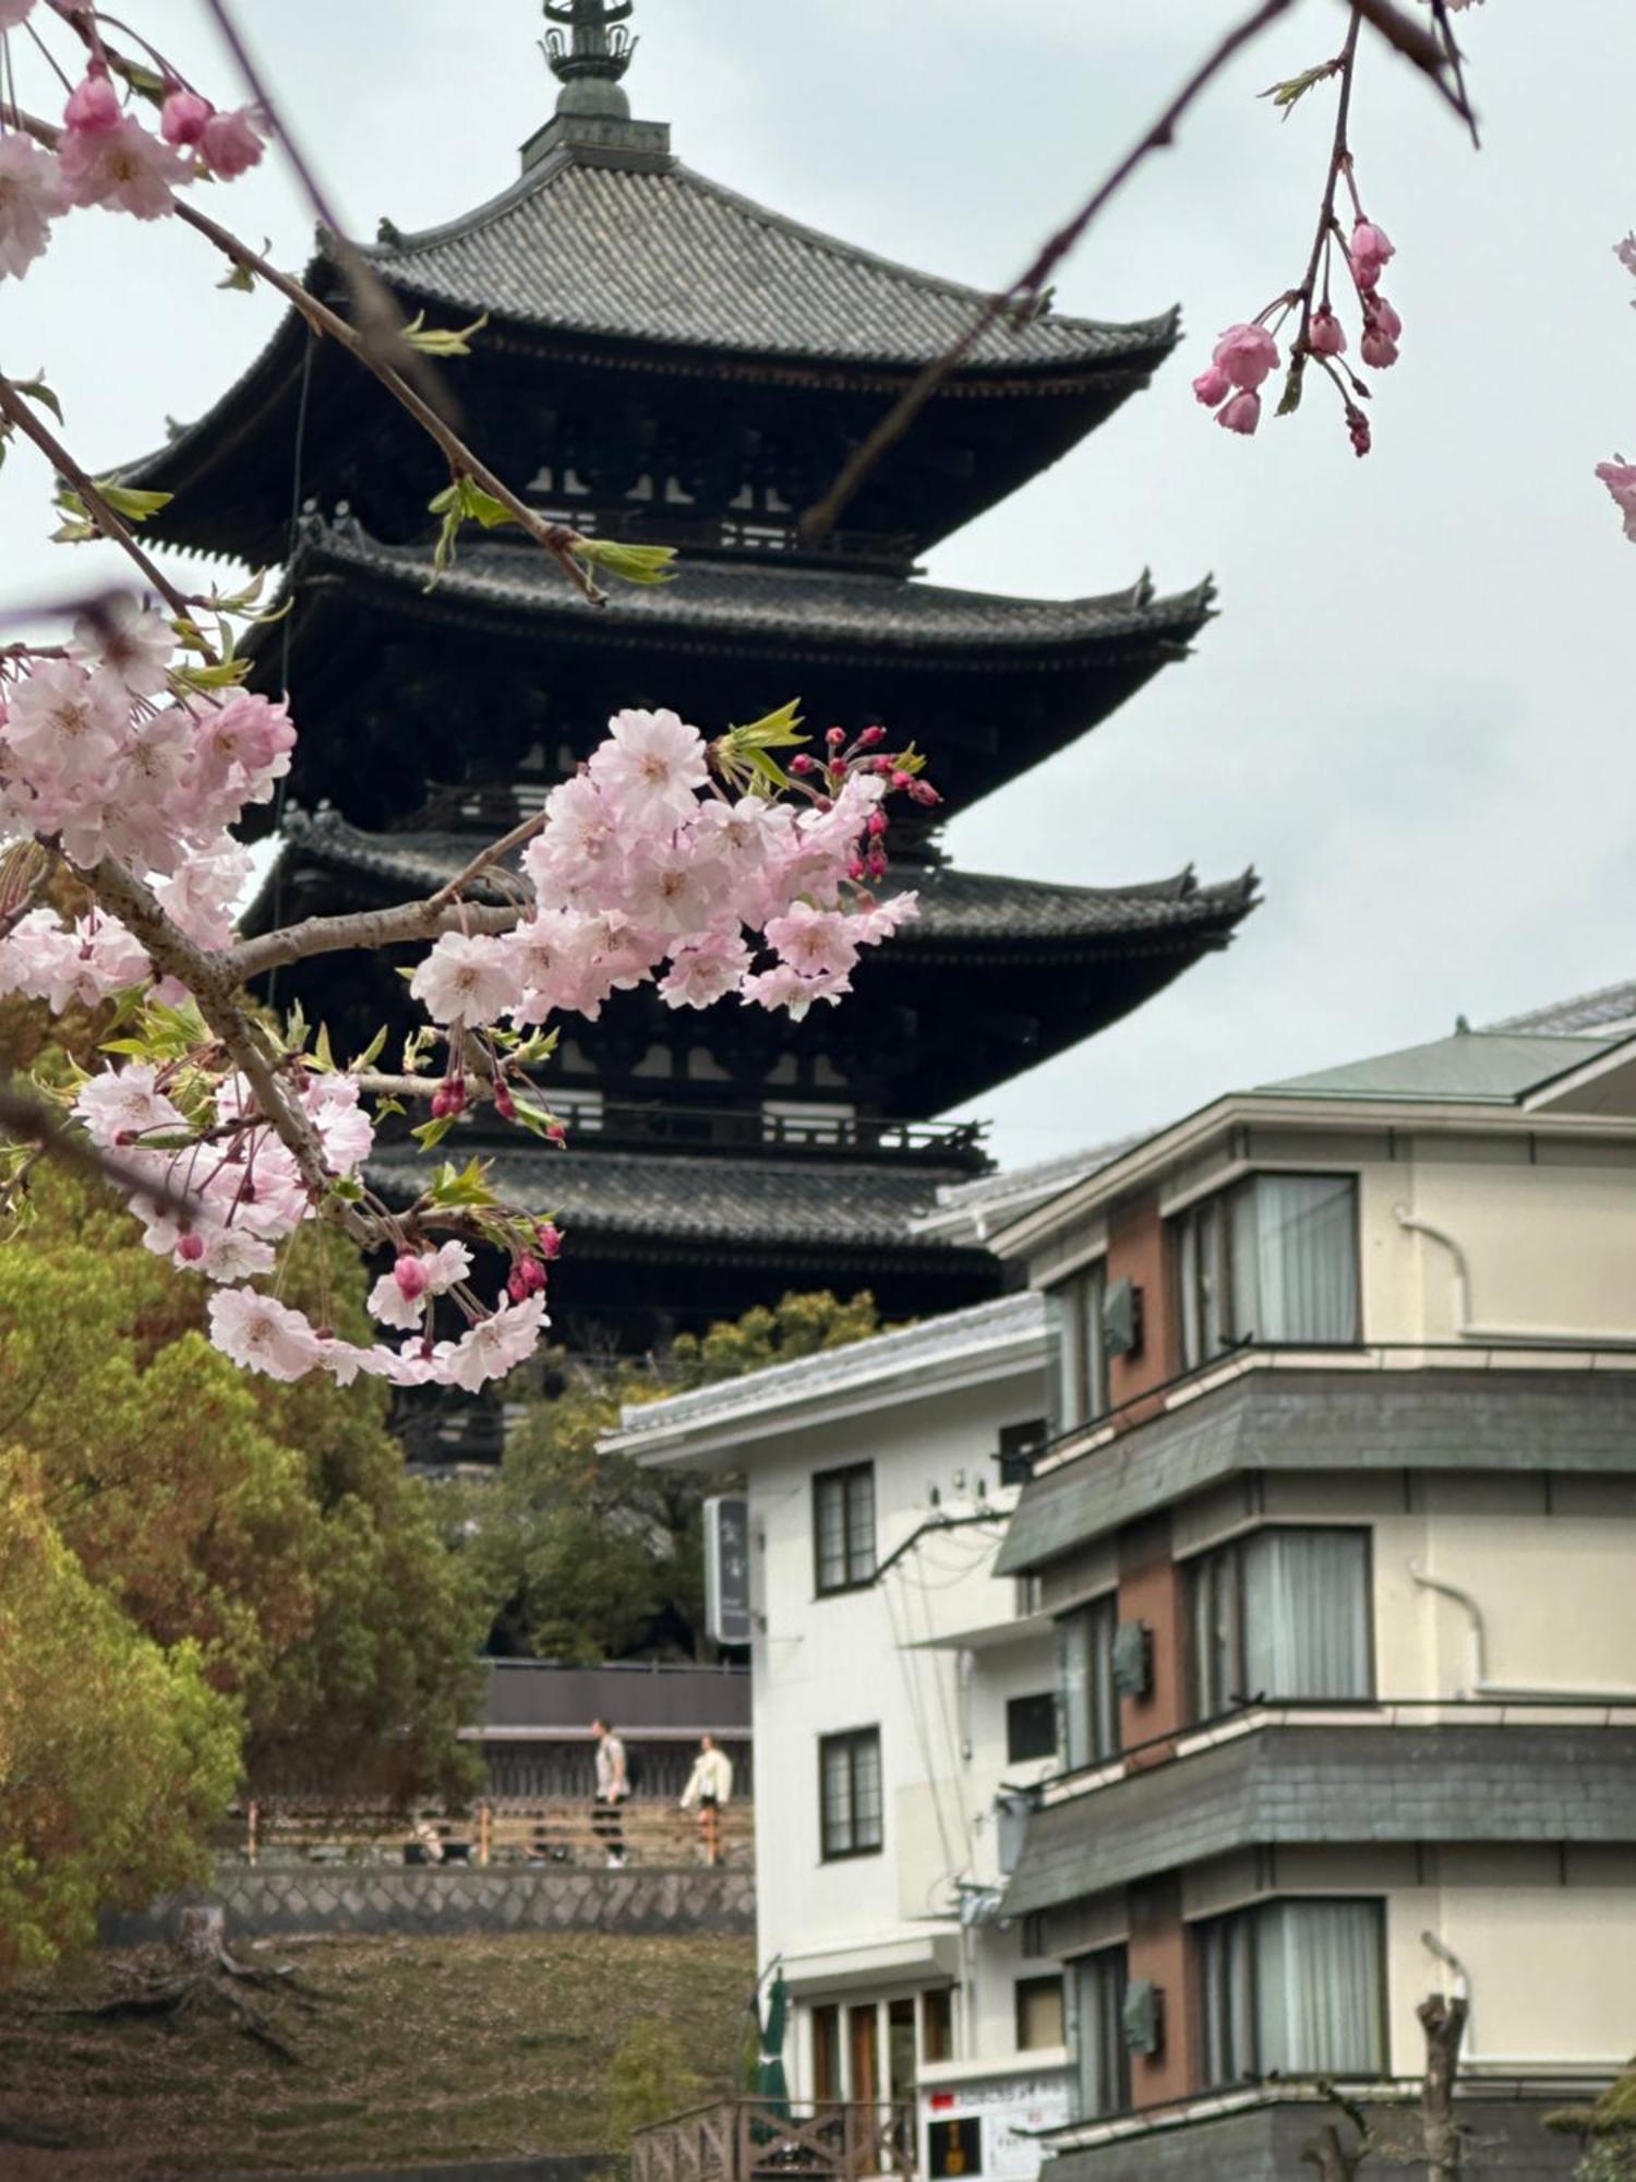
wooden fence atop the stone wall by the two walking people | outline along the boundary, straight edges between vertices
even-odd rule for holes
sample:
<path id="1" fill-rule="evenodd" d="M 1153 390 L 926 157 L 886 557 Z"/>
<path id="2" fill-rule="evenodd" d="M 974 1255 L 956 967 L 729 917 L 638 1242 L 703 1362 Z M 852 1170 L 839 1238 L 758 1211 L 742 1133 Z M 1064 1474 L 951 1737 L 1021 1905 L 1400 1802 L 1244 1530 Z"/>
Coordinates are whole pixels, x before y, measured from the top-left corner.
<path id="1" fill-rule="evenodd" d="M 600 1831 L 602 1829 L 602 1831 Z M 218 1839 L 244 1863 L 606 1863 L 613 1835 L 589 1802 L 484 1798 L 462 1813 L 404 1813 L 371 1802 L 266 1798 L 242 1805 Z M 633 1796 L 619 1805 L 626 1859 L 646 1868 L 705 1861 L 698 1813 Z M 755 1807 L 718 1813 L 720 1863 L 755 1857 Z"/>

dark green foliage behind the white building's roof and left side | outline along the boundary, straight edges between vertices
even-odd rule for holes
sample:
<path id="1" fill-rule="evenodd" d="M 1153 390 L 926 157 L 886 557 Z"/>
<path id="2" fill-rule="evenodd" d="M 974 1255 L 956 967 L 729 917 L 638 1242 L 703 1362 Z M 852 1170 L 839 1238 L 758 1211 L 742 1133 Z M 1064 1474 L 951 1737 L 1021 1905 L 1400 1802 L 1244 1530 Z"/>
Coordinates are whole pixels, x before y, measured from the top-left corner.
<path id="1" fill-rule="evenodd" d="M 598 1440 L 628 1403 L 879 1331 L 870 1294 L 849 1303 L 798 1294 L 681 1335 L 657 1359 L 569 1366 L 554 1357 L 552 1386 L 510 1434 L 500 1479 L 458 1508 L 458 1521 L 473 1530 L 484 1591 L 506 1602 L 500 1645 L 574 1663 L 696 1654 L 705 1619 L 700 1479 L 598 1455 Z"/>

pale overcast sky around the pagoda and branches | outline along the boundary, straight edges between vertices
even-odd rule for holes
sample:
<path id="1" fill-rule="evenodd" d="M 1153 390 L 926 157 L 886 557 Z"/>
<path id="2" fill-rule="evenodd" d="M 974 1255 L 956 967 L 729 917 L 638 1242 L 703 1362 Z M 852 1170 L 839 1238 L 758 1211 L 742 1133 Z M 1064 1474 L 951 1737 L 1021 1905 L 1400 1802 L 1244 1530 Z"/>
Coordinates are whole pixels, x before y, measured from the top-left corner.
<path id="1" fill-rule="evenodd" d="M 353 231 L 432 225 L 502 188 L 554 85 L 537 0 L 244 0 L 286 111 Z M 1191 61 L 1228 0 L 639 0 L 626 79 L 683 159 L 781 212 L 982 286 L 1010 279 Z M 207 55 L 199 0 L 133 15 Z M 1180 301 L 1154 386 L 942 546 L 979 589 L 1219 583 L 1219 620 L 1075 751 L 951 831 L 971 868 L 1082 884 L 1254 864 L 1224 958 L 986 1102 L 1008 1163 L 1163 1122 L 1217 1091 L 1416 1043 L 1636 978 L 1629 731 L 1636 550 L 1590 471 L 1636 456 L 1629 0 L 1490 0 L 1466 17 L 1485 146 L 1370 52 L 1352 142 L 1392 231 L 1403 362 L 1357 463 L 1313 388 L 1241 441 L 1189 393 L 1211 338 L 1300 277 L 1326 92 L 1280 124 L 1254 92 L 1335 48 L 1304 0 L 1208 94 L 1058 279 L 1110 319 Z M 1577 41 L 1562 50 L 1568 26 Z M 222 196 L 299 264 L 279 172 Z M 155 308 L 155 273 L 168 301 Z M 251 360 L 266 299 L 220 295 L 183 231 L 76 214 L 4 288 L 4 367 L 46 362 L 94 467 L 155 445 Z M 0 598 L 63 580 L 44 476 L 0 473 Z M 89 572 L 81 559 L 76 574 Z M 803 690 L 822 714 L 822 692 Z M 936 753 L 936 720 L 914 727 Z"/>

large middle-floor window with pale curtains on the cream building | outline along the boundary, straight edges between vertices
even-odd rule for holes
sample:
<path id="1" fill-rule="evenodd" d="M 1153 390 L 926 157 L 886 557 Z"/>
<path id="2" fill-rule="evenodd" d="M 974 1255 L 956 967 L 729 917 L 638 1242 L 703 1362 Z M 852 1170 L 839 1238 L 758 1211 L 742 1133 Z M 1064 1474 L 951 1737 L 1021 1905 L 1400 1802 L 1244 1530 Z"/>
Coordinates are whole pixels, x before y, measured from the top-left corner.
<path id="1" fill-rule="evenodd" d="M 1189 1564 L 1191 1702 L 1372 1698 L 1370 1534 L 1259 1530 Z"/>

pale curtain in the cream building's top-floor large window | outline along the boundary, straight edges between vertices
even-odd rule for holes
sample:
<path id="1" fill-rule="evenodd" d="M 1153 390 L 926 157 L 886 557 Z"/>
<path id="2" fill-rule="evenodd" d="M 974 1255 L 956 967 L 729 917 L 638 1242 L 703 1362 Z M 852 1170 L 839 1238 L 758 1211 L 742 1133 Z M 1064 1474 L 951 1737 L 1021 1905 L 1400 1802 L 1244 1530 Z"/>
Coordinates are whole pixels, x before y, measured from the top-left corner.
<path id="1" fill-rule="evenodd" d="M 1357 1340 L 1350 1178 L 1259 1174 L 1232 1198 L 1232 1331 L 1259 1342 Z"/>

